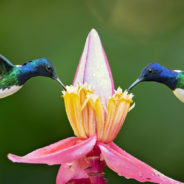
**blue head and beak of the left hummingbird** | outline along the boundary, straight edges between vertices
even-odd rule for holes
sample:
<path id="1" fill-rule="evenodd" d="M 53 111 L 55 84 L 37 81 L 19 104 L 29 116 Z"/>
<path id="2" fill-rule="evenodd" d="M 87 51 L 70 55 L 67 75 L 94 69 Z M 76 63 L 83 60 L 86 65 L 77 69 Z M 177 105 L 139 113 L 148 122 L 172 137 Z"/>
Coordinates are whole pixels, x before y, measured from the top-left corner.
<path id="1" fill-rule="evenodd" d="M 56 80 L 65 89 L 65 86 L 57 77 L 53 65 L 46 58 L 28 61 L 27 63 L 24 63 L 21 68 L 23 71 L 22 73 L 24 74 L 22 77 L 24 77 L 25 81 L 35 76 L 50 77 Z"/>

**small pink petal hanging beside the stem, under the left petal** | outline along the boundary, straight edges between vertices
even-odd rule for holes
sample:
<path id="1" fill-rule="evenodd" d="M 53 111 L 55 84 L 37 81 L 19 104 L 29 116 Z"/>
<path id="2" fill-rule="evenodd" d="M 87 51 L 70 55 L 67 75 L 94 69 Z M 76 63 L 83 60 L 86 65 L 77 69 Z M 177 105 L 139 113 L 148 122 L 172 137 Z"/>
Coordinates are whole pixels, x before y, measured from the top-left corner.
<path id="1" fill-rule="evenodd" d="M 88 178 L 85 169 L 89 167 L 84 159 L 75 160 L 71 163 L 63 164 L 57 175 L 57 184 L 65 184 L 73 179 Z"/>

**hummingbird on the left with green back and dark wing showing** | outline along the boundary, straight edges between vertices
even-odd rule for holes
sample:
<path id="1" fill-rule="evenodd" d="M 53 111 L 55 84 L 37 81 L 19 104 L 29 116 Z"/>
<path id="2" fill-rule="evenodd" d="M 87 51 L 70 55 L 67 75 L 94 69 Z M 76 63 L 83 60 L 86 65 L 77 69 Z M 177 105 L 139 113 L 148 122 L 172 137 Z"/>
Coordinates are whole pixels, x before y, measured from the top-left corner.
<path id="1" fill-rule="evenodd" d="M 48 59 L 40 58 L 23 65 L 13 65 L 7 58 L 0 55 L 0 98 L 14 94 L 26 81 L 36 76 L 52 78 L 66 90 Z"/>

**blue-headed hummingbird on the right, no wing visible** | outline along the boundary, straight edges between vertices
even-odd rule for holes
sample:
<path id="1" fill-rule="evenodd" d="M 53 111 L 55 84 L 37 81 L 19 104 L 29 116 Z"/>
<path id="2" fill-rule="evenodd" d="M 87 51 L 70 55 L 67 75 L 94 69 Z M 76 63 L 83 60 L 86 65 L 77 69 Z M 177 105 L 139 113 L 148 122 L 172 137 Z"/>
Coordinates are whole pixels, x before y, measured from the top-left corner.
<path id="1" fill-rule="evenodd" d="M 184 71 L 169 70 L 158 63 L 148 64 L 141 72 L 139 78 L 128 88 L 130 91 L 134 86 L 144 81 L 153 81 L 165 84 L 174 95 L 184 103 Z"/>

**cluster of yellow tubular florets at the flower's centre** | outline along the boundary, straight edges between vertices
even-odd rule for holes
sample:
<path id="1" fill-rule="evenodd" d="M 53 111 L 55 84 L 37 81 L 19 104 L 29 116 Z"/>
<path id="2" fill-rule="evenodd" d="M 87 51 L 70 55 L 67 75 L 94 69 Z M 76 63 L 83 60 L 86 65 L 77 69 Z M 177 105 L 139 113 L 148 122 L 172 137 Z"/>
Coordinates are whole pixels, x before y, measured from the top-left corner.
<path id="1" fill-rule="evenodd" d="M 90 86 L 66 86 L 63 91 L 66 113 L 74 134 L 79 138 L 96 135 L 98 141 L 108 143 L 115 139 L 133 103 L 132 94 L 118 88 L 104 103 Z"/>

